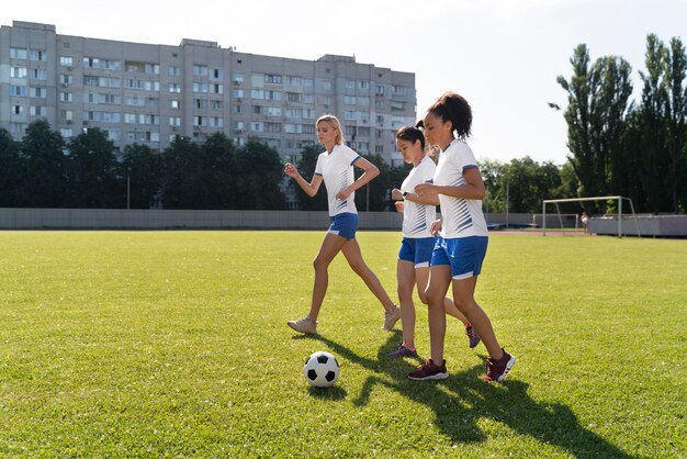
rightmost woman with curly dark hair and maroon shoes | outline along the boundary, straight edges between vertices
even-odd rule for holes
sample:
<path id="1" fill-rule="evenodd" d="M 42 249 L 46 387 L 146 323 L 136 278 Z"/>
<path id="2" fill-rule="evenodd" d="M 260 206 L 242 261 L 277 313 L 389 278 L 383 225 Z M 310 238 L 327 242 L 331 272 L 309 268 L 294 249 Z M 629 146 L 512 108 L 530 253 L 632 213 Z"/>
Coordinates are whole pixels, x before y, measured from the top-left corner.
<path id="1" fill-rule="evenodd" d="M 488 316 L 474 299 L 488 233 L 482 213 L 484 181 L 472 149 L 465 143 L 472 126 L 472 109 L 462 96 L 447 92 L 429 108 L 424 125 L 425 138 L 440 150 L 439 164 L 433 182 L 417 184 L 415 192 L 427 201 L 438 198 L 441 220 L 431 227 L 439 237 L 430 261 L 426 291 L 431 357 L 408 378 L 432 380 L 449 377 L 443 359 L 443 302 L 451 288 L 453 302 L 468 317 L 489 354 L 484 380 L 503 381 L 516 358 L 500 347 Z"/>

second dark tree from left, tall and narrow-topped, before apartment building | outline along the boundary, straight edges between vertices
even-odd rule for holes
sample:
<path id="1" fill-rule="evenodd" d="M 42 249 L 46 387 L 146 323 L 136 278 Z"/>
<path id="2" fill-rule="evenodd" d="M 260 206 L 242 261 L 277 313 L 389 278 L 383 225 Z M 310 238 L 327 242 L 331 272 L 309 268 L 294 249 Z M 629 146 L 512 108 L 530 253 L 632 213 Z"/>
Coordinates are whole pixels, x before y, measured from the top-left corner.
<path id="1" fill-rule="evenodd" d="M 19 202 L 26 208 L 61 208 L 67 198 L 64 141 L 45 119 L 29 124 L 21 142 L 26 176 Z"/>

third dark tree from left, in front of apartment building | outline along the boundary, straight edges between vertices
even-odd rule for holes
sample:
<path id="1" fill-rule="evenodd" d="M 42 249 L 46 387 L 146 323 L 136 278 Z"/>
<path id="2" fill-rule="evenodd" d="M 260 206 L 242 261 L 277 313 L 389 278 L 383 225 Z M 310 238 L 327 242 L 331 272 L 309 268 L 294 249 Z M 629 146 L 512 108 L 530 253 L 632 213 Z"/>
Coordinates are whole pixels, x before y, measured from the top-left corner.
<path id="1" fill-rule="evenodd" d="M 117 175 L 114 144 L 100 128 L 89 128 L 67 144 L 67 205 L 82 209 L 126 206 L 126 194 Z"/>

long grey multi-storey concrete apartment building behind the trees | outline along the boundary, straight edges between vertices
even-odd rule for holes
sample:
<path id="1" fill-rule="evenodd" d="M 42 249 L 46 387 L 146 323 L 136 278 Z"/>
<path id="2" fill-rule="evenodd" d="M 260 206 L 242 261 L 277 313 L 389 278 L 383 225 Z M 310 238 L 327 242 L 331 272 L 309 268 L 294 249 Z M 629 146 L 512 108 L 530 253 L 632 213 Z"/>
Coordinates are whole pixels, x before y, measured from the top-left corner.
<path id="1" fill-rule="evenodd" d="M 176 136 L 203 142 L 222 131 L 295 160 L 325 113 L 339 117 L 353 149 L 399 165 L 394 133 L 415 123 L 415 75 L 348 56 L 311 61 L 188 38 L 168 46 L 60 35 L 49 24 L 0 27 L 0 127 L 15 138 L 40 117 L 65 138 L 99 127 L 119 148 L 162 150 Z"/>

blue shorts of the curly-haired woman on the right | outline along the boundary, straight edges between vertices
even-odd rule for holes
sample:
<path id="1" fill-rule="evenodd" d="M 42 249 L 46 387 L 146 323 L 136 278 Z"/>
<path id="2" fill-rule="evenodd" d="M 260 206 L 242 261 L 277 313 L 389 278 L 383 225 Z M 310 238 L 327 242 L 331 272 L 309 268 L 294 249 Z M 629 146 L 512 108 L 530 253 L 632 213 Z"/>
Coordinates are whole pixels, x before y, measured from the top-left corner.
<path id="1" fill-rule="evenodd" d="M 431 266 L 450 265 L 453 279 L 468 279 L 482 272 L 486 256 L 487 236 L 444 239 L 439 236 L 431 254 Z"/>

